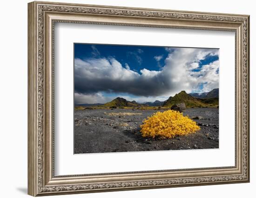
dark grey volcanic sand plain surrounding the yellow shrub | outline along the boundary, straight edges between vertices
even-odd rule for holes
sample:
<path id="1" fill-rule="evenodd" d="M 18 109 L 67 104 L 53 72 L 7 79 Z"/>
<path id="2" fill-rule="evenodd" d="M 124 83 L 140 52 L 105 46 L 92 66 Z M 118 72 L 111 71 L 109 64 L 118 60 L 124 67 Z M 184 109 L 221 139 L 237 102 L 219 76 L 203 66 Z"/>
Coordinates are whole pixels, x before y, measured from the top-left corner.
<path id="1" fill-rule="evenodd" d="M 74 153 L 110 153 L 219 147 L 219 109 L 191 108 L 189 115 L 200 126 L 195 134 L 173 139 L 141 137 L 140 125 L 157 110 L 87 109 L 74 111 Z M 160 110 L 163 111 L 163 110 Z M 107 115 L 106 113 L 140 113 L 141 115 Z"/>

